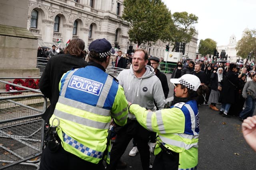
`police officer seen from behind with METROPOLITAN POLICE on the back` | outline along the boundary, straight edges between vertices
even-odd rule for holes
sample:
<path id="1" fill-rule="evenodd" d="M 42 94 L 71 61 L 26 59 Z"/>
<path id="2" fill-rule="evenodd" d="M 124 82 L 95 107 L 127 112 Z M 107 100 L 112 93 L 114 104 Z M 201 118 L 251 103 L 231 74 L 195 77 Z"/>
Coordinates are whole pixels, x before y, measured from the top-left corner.
<path id="1" fill-rule="evenodd" d="M 128 103 L 124 90 L 105 72 L 111 44 L 96 39 L 88 49 L 88 66 L 70 70 L 60 80 L 60 96 L 50 118 L 59 145 L 47 145 L 43 150 L 42 170 L 102 169 L 111 119 L 116 125 L 126 124 Z"/>

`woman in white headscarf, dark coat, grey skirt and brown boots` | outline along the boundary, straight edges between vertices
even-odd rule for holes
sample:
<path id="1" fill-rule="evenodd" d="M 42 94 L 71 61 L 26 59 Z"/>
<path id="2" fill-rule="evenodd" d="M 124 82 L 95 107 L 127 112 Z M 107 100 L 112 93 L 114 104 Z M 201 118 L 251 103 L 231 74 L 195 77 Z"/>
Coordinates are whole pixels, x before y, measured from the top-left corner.
<path id="1" fill-rule="evenodd" d="M 216 70 L 217 66 L 213 67 L 213 72 L 211 75 L 212 79 L 212 85 L 211 85 L 211 93 L 209 97 L 208 103 L 210 104 L 210 108 L 216 111 L 219 111 L 219 109 L 216 107 L 216 103 L 218 103 L 219 97 L 220 97 L 220 90 L 222 87 L 223 82 L 223 68 L 218 68 Z M 218 88 L 219 87 L 219 88 Z"/>

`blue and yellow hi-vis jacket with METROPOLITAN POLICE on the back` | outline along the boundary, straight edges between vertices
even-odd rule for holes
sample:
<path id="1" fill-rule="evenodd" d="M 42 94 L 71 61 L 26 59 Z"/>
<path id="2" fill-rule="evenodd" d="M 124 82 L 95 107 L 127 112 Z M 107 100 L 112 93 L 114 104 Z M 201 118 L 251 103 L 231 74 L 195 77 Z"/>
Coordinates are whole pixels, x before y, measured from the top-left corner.
<path id="1" fill-rule="evenodd" d="M 118 82 L 96 66 L 70 70 L 60 80 L 54 114 L 64 150 L 98 163 L 106 149 L 111 116 L 118 125 L 127 119 L 127 101 Z M 57 121 L 53 122 L 57 125 Z"/>

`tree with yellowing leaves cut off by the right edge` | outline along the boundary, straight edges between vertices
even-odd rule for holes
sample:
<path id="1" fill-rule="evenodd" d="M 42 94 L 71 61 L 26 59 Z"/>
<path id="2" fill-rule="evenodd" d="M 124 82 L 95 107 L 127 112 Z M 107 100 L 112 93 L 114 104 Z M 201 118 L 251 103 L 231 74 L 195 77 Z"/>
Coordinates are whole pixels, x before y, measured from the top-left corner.
<path id="1" fill-rule="evenodd" d="M 247 59 L 248 54 L 251 52 L 250 58 L 254 58 L 256 63 L 256 29 L 252 29 L 245 33 L 236 45 L 236 55 Z"/>

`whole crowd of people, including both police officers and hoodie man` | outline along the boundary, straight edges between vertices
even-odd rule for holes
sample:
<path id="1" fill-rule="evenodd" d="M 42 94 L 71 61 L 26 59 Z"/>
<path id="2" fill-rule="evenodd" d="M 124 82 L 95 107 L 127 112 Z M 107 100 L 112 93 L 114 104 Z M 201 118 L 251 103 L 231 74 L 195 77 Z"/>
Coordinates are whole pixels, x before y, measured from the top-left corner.
<path id="1" fill-rule="evenodd" d="M 237 111 L 241 120 L 254 111 L 255 67 L 240 72 L 232 63 L 179 61 L 170 79 L 175 86 L 174 100 L 166 108 L 168 81 L 158 70 L 158 57 L 148 56 L 144 49 L 137 49 L 132 57 L 122 51 L 113 55 L 106 39 L 92 41 L 88 53 L 84 47 L 82 39 L 72 39 L 63 54 L 55 55 L 54 46 L 48 52 L 51 57 L 39 87 L 50 99 L 42 118 L 51 128 L 46 133 L 40 170 L 116 170 L 120 164 L 124 168 L 126 163 L 120 158 L 131 140 L 134 146 L 129 155 L 140 152 L 143 170 L 196 170 L 198 105 L 209 104 L 226 117 Z M 117 78 L 106 73 L 109 64 L 126 68 L 127 60 L 130 67 Z M 220 110 L 216 104 L 222 104 Z M 248 129 L 254 127 L 254 121 L 244 122 L 247 137 L 251 137 Z M 150 152 L 156 155 L 153 164 Z"/>

